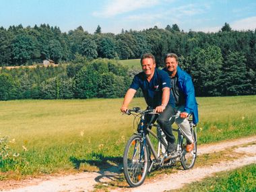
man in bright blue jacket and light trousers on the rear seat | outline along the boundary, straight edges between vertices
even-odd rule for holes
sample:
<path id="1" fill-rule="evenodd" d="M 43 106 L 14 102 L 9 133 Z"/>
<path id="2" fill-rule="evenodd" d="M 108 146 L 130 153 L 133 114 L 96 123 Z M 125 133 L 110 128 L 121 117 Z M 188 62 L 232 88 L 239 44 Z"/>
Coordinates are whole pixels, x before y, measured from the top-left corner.
<path id="1" fill-rule="evenodd" d="M 171 94 L 175 99 L 175 108 L 180 113 L 176 119 L 171 119 L 171 124 L 177 123 L 181 126 L 187 139 L 187 152 L 194 148 L 193 137 L 187 119 L 188 115 L 193 115 L 193 123 L 198 123 L 197 101 L 195 100 L 195 89 L 191 76 L 178 66 L 178 56 L 174 53 L 168 53 L 164 57 L 165 68 L 169 74 L 171 84 Z"/>

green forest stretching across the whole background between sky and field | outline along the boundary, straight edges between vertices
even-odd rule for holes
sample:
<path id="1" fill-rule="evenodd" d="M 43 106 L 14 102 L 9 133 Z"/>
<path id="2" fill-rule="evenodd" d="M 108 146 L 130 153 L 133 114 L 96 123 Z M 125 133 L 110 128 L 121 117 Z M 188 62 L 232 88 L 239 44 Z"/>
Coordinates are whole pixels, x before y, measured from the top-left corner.
<path id="1" fill-rule="evenodd" d="M 3 96 L 1 99 L 123 96 L 117 82 L 124 84 L 122 88 L 127 88 L 128 82 L 131 82 L 131 71 L 122 68 L 114 73 L 112 68 L 107 69 L 106 64 L 100 64 L 101 62 L 115 63 L 115 67 L 119 69 L 121 66 L 117 64 L 117 59 L 138 59 L 143 53 L 152 53 L 157 65 L 161 67 L 164 65 L 164 55 L 170 52 L 179 55 L 181 67 L 193 77 L 197 96 L 245 95 L 256 92 L 256 30 L 236 31 L 225 23 L 219 32 L 183 32 L 174 24 L 164 29 L 154 26 L 141 31 L 122 30 L 120 34 L 102 33 L 98 26 L 94 34 L 89 34 L 81 26 L 63 33 L 56 26 L 42 24 L 33 28 L 24 28 L 22 25 L 10 26 L 8 29 L 1 27 L 0 65 L 30 65 L 42 63 L 44 59 L 70 64 L 68 67 L 1 70 L 1 83 L 11 82 L 9 86 L 1 86 L 1 89 L 8 87 L 11 96 Z M 77 61 L 79 59 L 84 64 Z M 94 62 L 105 67 L 99 69 L 92 64 L 88 67 L 88 63 Z M 89 69 L 95 74 L 89 74 Z M 96 72 L 98 69 L 101 70 L 100 73 Z M 105 73 L 103 69 L 106 70 Z M 126 71 L 127 74 L 124 75 L 121 71 Z M 103 78 L 107 80 L 101 80 Z M 88 83 L 82 85 L 82 79 L 97 82 L 97 91 L 88 89 L 85 93 L 84 90 L 79 90 L 79 86 L 90 87 Z M 58 90 L 49 91 L 51 84 Z M 107 86 L 108 84 L 112 87 Z M 22 86 L 29 87 L 30 94 L 21 94 L 18 91 L 20 88 L 22 91 L 26 90 Z M 64 91 L 65 88 L 69 91 Z M 109 90 L 102 91 L 101 88 Z"/>

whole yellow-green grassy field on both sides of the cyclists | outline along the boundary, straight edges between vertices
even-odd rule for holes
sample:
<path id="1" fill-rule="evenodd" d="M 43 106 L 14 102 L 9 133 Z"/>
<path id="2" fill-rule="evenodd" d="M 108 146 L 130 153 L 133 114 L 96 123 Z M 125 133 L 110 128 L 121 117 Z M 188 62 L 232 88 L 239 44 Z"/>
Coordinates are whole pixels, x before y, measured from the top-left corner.
<path id="1" fill-rule="evenodd" d="M 256 96 L 197 98 L 199 144 L 256 134 Z M 133 118 L 123 99 L 13 100 L 0 102 L 0 137 L 20 156 L 0 160 L 0 179 L 97 170 L 119 163 Z M 146 107 L 143 98 L 130 106 Z"/>

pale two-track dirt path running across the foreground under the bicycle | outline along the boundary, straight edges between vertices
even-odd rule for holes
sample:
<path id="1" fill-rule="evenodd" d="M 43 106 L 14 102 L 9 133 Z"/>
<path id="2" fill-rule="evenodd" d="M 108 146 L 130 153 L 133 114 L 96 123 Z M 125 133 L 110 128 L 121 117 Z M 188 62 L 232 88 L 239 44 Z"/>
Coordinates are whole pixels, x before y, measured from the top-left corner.
<path id="1" fill-rule="evenodd" d="M 253 137 L 234 139 L 198 147 L 198 155 L 218 152 L 233 146 L 243 146 L 247 143 L 256 141 L 256 135 Z M 185 183 L 198 181 L 204 177 L 210 176 L 214 172 L 230 170 L 256 163 L 256 143 L 251 146 L 236 148 L 237 152 L 245 152 L 245 156 L 235 161 L 220 162 L 212 166 L 203 168 L 193 168 L 191 170 L 179 170 L 174 174 L 165 174 L 156 179 L 148 180 L 137 188 L 118 188 L 113 191 L 164 191 L 170 189 L 179 189 Z M 8 181 L 0 183 L 0 191 L 25 192 L 25 191 L 92 191 L 94 185 L 104 181 L 115 179 L 120 174 L 121 166 L 113 166 L 108 170 L 100 172 L 83 172 L 62 177 L 47 177 L 43 179 L 31 179 L 26 181 Z M 183 178 L 183 179 L 181 179 Z"/>

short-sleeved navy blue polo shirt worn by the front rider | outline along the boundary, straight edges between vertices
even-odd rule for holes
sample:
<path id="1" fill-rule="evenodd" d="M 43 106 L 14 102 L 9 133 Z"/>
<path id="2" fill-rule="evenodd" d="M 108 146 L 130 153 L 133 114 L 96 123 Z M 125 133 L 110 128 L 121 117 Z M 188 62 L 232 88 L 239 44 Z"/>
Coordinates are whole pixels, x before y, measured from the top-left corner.
<path id="1" fill-rule="evenodd" d="M 166 71 L 155 69 L 152 79 L 148 82 L 146 74 L 141 72 L 135 75 L 130 88 L 133 90 L 141 88 L 148 106 L 156 108 L 162 104 L 162 89 L 170 88 L 170 78 Z M 175 106 L 172 94 L 170 94 L 168 104 Z"/>

